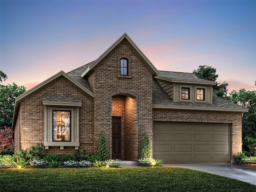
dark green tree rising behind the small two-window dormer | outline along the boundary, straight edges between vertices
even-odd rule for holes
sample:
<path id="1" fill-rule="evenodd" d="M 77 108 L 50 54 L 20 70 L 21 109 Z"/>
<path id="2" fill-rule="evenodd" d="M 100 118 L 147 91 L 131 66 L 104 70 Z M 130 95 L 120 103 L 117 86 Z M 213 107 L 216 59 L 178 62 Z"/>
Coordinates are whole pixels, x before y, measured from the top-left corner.
<path id="1" fill-rule="evenodd" d="M 200 65 L 197 70 L 193 70 L 193 73 L 200 79 L 208 80 L 208 81 L 216 81 L 218 78 L 218 74 L 216 74 L 216 68 L 207 65 Z M 212 86 L 213 92 L 221 97 L 227 97 L 227 86 L 228 83 L 224 81 L 222 84 L 217 83 L 216 85 Z"/>

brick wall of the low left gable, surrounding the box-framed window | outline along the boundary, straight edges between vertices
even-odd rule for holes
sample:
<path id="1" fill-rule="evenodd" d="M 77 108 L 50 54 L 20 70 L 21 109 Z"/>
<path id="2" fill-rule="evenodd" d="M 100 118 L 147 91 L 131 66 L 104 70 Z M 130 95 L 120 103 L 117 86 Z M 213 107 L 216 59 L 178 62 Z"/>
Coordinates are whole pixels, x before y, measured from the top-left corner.
<path id="1" fill-rule="evenodd" d="M 94 154 L 93 100 L 63 77 L 57 78 L 54 82 L 21 101 L 21 150 L 28 150 L 30 146 L 43 145 L 44 143 L 42 96 L 73 97 L 82 100 L 82 106 L 79 107 L 79 148 Z M 74 147 L 64 147 L 64 150 L 60 150 L 59 147 L 49 147 L 48 150 L 44 150 L 46 154 L 57 154 L 58 156 L 63 154 L 76 155 L 76 151 Z"/>

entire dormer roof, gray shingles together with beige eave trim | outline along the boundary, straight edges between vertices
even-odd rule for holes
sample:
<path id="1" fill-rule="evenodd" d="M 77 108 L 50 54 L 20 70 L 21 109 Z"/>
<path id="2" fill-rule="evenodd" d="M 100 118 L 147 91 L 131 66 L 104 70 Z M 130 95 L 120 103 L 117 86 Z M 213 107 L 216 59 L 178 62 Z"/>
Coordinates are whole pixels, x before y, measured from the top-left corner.
<path id="1" fill-rule="evenodd" d="M 165 80 L 169 82 L 178 83 L 193 83 L 193 84 L 205 84 L 216 85 L 217 82 L 199 79 L 194 73 L 185 72 L 173 72 L 173 71 L 159 71 L 159 75 L 156 79 Z"/>

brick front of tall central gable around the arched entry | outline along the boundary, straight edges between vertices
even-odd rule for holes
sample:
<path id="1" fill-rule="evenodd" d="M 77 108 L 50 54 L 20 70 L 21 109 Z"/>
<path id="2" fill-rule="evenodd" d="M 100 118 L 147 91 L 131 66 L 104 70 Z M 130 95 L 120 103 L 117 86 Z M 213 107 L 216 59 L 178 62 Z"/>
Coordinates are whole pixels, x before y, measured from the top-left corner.
<path id="1" fill-rule="evenodd" d="M 130 78 L 118 77 L 120 58 L 128 59 Z M 139 146 L 141 147 L 145 133 L 148 133 L 152 140 L 152 72 L 146 64 L 140 60 L 126 41 L 122 41 L 94 70 L 94 84 L 97 85 L 94 89 L 94 135 L 96 138 L 94 150 L 97 150 L 100 134 L 104 132 L 110 145 L 111 157 L 112 96 L 119 93 L 129 93 L 137 99 L 138 124 L 134 131 L 138 132 Z M 134 148 L 134 150 L 138 154 L 140 149 Z"/>

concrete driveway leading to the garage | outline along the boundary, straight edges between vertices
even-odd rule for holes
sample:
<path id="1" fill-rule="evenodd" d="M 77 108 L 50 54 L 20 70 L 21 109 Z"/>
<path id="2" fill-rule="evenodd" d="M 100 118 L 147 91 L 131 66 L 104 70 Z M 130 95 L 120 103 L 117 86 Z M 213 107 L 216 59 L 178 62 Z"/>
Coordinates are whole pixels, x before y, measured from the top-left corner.
<path id="1" fill-rule="evenodd" d="M 164 164 L 216 174 L 256 185 L 256 166 L 235 164 Z"/>

